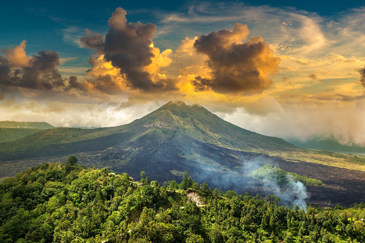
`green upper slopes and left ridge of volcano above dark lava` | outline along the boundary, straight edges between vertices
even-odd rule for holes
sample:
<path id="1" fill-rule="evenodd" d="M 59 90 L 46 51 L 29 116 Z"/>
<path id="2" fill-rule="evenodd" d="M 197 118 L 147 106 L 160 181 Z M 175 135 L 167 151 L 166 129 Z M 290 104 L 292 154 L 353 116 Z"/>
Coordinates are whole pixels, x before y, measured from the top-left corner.
<path id="1" fill-rule="evenodd" d="M 78 142 L 115 133 L 134 133 L 137 130 L 137 133 L 131 137 L 131 140 L 135 140 L 147 130 L 155 128 L 181 132 L 199 141 L 239 150 L 264 150 L 265 143 L 270 145 L 270 150 L 295 148 L 281 138 L 261 135 L 224 121 L 199 104 L 186 105 L 183 101 L 170 101 L 129 124 L 96 129 L 54 128 L 7 143 L 1 146 L 0 151 L 6 153 L 14 148 L 26 149 Z M 166 136 L 171 136 L 167 131 L 164 133 Z M 239 136 L 245 136 L 245 140 Z M 230 138 L 227 139 L 227 137 Z"/>

